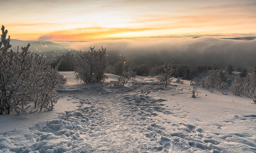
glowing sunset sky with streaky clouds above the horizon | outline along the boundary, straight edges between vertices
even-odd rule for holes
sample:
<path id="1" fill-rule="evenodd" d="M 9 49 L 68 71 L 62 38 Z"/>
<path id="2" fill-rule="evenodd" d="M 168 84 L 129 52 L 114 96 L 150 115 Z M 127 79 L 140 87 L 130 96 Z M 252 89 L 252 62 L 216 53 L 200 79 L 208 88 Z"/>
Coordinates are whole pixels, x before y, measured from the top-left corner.
<path id="1" fill-rule="evenodd" d="M 11 39 L 256 36 L 255 0 L 0 0 Z"/>

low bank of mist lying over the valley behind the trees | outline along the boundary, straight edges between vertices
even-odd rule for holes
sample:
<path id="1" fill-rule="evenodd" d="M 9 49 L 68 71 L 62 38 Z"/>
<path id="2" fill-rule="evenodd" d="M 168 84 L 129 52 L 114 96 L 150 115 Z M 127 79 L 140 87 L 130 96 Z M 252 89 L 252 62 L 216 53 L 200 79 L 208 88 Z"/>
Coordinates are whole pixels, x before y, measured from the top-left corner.
<path id="1" fill-rule="evenodd" d="M 256 64 L 256 40 L 231 40 L 204 38 L 149 38 L 149 39 L 112 39 L 95 42 L 70 44 L 75 50 L 88 51 L 89 47 L 99 50 L 107 48 L 109 55 L 121 54 L 127 61 L 152 65 L 173 60 L 175 63 L 192 65 L 213 65 L 225 68 L 227 64 L 252 68 Z"/>

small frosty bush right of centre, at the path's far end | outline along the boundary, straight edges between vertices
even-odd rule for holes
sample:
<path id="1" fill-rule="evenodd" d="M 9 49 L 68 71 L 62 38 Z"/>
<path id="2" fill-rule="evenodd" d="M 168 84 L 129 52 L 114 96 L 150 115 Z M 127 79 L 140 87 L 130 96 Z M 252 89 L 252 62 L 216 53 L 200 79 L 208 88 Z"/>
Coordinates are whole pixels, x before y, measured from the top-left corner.
<path id="1" fill-rule="evenodd" d="M 173 68 L 172 68 L 172 62 L 167 62 L 163 65 L 163 72 L 157 76 L 157 79 L 159 82 L 167 87 L 167 85 L 170 84 L 173 80 Z"/>

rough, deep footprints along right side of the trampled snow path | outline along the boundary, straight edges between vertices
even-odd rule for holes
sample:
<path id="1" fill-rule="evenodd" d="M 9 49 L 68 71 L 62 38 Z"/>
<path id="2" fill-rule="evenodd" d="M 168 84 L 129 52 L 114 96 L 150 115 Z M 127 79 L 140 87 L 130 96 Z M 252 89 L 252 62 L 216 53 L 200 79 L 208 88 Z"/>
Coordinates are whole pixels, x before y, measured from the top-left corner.
<path id="1" fill-rule="evenodd" d="M 157 122 L 153 117 L 159 113 L 172 114 L 166 110 L 162 101 L 165 99 L 154 99 L 147 95 L 126 95 L 124 99 L 130 109 L 137 112 L 141 119 L 147 123 L 148 127 L 145 136 L 151 141 L 156 141 L 156 146 L 151 146 L 155 152 L 168 152 L 168 149 L 176 148 L 182 152 L 195 152 L 197 150 L 212 151 L 214 153 L 221 152 L 218 147 L 219 142 L 212 139 L 211 136 L 206 137 L 201 128 L 194 125 L 178 124 L 163 124 Z M 158 145 L 157 145 L 158 144 Z"/>

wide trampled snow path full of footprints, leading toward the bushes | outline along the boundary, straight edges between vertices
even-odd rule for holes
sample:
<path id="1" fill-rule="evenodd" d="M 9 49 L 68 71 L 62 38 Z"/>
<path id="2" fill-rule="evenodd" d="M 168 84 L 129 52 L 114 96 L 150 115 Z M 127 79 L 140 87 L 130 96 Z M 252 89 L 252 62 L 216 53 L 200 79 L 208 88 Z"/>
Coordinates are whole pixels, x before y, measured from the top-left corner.
<path id="1" fill-rule="evenodd" d="M 127 90 L 127 95 L 118 88 L 112 91 L 95 89 L 97 91 L 91 93 L 88 89 L 81 89 L 86 90 L 84 97 L 73 96 L 80 103 L 78 110 L 67 111 L 58 120 L 39 122 L 31 127 L 35 132 L 26 137 L 28 145 L 13 147 L 10 151 L 122 152 L 123 148 L 131 148 L 129 152 L 222 152 L 220 142 L 206 135 L 200 127 L 158 120 L 159 114 L 175 115 L 164 107 L 162 102 L 166 100 L 149 97 L 145 88 L 140 90 L 140 85 L 134 89 L 136 91 L 121 89 Z M 150 91 L 156 90 L 159 88 Z M 237 118 L 255 119 L 256 115 Z M 225 140 L 235 136 L 238 134 L 220 137 Z M 120 144 L 116 144 L 121 139 Z M 9 143 L 10 140 L 0 141 Z M 252 146 L 255 147 L 253 143 Z"/>

